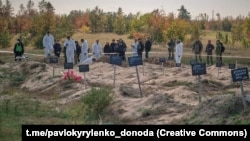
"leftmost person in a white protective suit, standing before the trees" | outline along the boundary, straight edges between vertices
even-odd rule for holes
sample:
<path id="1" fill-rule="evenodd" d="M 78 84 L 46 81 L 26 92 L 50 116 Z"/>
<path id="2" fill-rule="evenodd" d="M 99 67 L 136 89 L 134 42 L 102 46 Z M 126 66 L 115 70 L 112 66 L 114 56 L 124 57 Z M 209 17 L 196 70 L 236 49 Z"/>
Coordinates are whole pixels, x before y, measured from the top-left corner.
<path id="1" fill-rule="evenodd" d="M 43 47 L 44 47 L 45 58 L 52 54 L 53 45 L 54 45 L 54 36 L 49 31 L 47 31 L 47 33 L 43 36 Z"/>

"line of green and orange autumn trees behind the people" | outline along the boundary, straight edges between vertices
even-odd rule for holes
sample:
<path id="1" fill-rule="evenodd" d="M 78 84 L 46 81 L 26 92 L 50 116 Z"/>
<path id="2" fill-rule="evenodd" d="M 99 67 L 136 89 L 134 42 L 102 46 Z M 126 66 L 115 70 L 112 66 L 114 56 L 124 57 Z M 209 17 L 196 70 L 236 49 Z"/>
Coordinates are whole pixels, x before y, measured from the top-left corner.
<path id="1" fill-rule="evenodd" d="M 244 47 L 250 46 L 250 14 L 247 17 L 222 18 L 216 13 L 215 18 L 209 19 L 206 13 L 201 13 L 191 19 L 190 13 L 182 5 L 177 9 L 177 16 L 162 9 L 146 14 L 124 14 L 119 7 L 117 12 L 104 12 L 98 6 L 59 15 L 55 13 L 54 6 L 45 0 L 38 2 L 38 8 L 29 0 L 19 6 L 16 15 L 13 11 L 9 0 L 5 0 L 5 3 L 0 0 L 0 48 L 8 47 L 17 34 L 24 44 L 42 48 L 42 38 L 48 30 L 56 39 L 81 30 L 85 33 L 128 34 L 129 38 L 151 37 L 156 43 L 166 42 L 170 38 L 192 41 L 201 36 L 202 30 L 215 30 L 218 32 L 217 38 L 225 43 L 240 41 Z"/>

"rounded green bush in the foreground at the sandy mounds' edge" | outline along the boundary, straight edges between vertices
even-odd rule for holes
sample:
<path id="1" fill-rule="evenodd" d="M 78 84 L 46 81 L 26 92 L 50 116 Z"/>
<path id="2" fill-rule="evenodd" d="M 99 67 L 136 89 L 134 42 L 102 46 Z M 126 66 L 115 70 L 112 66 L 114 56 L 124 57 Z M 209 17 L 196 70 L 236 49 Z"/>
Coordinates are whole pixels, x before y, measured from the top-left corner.
<path id="1" fill-rule="evenodd" d="M 112 94 L 111 89 L 107 88 L 92 88 L 88 91 L 82 98 L 85 120 L 97 120 L 99 115 L 111 103 Z"/>

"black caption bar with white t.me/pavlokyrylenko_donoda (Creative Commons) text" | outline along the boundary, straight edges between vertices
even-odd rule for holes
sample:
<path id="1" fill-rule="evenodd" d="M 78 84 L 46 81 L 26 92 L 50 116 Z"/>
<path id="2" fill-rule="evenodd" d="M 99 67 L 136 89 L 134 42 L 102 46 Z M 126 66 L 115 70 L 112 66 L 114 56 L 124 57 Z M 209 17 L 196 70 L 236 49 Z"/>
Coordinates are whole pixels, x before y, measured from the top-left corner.
<path id="1" fill-rule="evenodd" d="M 220 138 L 248 140 L 250 125 L 22 125 L 22 141 Z"/>

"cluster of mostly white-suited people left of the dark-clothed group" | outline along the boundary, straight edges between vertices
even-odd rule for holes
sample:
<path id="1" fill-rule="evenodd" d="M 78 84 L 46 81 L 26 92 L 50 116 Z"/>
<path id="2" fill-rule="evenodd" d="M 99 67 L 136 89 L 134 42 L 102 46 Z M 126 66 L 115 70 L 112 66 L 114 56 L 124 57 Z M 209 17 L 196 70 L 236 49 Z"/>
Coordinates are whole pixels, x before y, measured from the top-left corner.
<path id="1" fill-rule="evenodd" d="M 55 56 L 60 57 L 61 52 L 64 53 L 65 63 L 81 64 L 88 58 L 89 45 L 87 40 L 81 39 L 80 43 L 70 36 L 67 36 L 63 43 L 63 47 L 59 40 L 54 43 L 54 36 L 48 31 L 43 37 L 43 47 L 45 58 L 50 57 L 51 53 Z M 100 59 L 102 54 L 102 45 L 99 40 L 92 45 L 93 58 Z"/>

